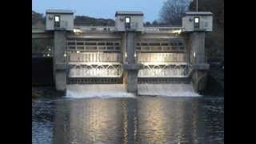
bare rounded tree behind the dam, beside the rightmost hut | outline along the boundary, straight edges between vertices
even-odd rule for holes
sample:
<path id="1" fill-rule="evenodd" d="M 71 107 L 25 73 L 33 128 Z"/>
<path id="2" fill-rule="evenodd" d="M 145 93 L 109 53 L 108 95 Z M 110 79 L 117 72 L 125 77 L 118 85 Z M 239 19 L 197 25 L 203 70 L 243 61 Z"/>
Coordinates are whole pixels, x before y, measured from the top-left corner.
<path id="1" fill-rule="evenodd" d="M 160 11 L 162 22 L 170 25 L 181 25 L 182 15 L 188 10 L 190 0 L 167 0 Z"/>

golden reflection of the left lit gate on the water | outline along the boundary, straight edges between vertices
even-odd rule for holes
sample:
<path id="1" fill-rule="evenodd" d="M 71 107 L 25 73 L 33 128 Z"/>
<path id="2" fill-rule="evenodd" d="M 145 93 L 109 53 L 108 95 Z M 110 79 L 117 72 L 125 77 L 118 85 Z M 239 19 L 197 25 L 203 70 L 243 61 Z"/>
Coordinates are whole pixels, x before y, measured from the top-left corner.
<path id="1" fill-rule="evenodd" d="M 135 99 L 98 98 L 68 102 L 68 113 L 55 111 L 54 143 L 134 142 L 135 103 Z"/>

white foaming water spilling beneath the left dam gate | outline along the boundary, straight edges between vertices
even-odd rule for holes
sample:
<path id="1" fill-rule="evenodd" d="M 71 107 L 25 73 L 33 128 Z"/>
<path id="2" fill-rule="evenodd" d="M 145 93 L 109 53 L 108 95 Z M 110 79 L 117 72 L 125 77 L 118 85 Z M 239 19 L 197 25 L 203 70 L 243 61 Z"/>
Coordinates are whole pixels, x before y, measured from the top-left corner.
<path id="1" fill-rule="evenodd" d="M 135 98 L 122 84 L 67 85 L 66 98 Z"/>

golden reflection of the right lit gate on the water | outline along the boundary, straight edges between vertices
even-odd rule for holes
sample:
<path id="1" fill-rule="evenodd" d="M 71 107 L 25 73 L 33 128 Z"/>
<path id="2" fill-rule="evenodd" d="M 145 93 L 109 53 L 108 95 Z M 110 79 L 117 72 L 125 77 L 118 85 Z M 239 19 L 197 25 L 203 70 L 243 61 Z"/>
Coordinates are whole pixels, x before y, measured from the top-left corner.
<path id="1" fill-rule="evenodd" d="M 198 112 L 198 99 L 141 98 L 138 143 L 198 143 L 203 138 Z"/>

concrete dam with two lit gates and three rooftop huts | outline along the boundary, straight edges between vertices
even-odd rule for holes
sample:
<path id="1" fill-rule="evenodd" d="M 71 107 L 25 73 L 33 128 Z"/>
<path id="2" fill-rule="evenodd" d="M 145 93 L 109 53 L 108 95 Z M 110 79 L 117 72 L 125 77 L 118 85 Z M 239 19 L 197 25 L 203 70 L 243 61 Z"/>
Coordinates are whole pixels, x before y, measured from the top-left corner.
<path id="1" fill-rule="evenodd" d="M 203 91 L 212 13 L 186 12 L 182 26 L 143 26 L 143 16 L 117 11 L 115 26 L 74 26 L 73 11 L 46 10 L 46 26 L 32 27 L 32 38 L 54 39 L 56 90 L 174 96 Z"/>

